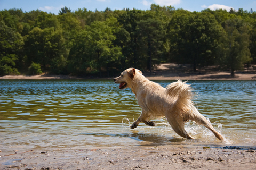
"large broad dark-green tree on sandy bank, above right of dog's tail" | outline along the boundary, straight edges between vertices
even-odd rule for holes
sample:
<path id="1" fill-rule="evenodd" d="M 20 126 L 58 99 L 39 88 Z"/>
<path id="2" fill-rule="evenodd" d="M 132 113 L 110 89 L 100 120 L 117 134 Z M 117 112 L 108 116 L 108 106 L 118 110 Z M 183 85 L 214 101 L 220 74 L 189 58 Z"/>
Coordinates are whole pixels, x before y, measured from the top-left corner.
<path id="1" fill-rule="evenodd" d="M 214 64 L 220 27 L 208 12 L 178 11 L 169 24 L 171 55 L 178 63 L 197 66 Z"/>

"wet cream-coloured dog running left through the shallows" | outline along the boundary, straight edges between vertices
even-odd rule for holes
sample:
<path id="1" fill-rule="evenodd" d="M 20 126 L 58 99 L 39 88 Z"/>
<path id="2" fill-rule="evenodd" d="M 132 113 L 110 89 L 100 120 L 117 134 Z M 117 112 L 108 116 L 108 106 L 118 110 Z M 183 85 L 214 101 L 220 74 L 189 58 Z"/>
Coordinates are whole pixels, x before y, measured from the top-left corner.
<path id="1" fill-rule="evenodd" d="M 183 138 L 193 139 L 185 130 L 185 122 L 192 120 L 199 125 L 208 128 L 219 140 L 222 135 L 217 132 L 211 123 L 198 112 L 194 106 L 193 92 L 190 85 L 178 80 L 163 88 L 160 84 L 148 80 L 138 69 L 126 69 L 117 78 L 119 89 L 131 88 L 132 92 L 142 108 L 140 117 L 131 125 L 131 129 L 137 128 L 140 122 L 149 126 L 155 126 L 155 118 L 166 117 L 173 130 Z"/>

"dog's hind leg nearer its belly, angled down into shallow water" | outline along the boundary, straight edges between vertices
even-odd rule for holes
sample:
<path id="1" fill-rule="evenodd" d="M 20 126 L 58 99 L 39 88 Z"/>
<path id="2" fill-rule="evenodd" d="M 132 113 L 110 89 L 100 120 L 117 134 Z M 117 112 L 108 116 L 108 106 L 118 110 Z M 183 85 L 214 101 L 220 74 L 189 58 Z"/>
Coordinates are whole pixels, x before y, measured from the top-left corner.
<path id="1" fill-rule="evenodd" d="M 179 117 L 179 118 L 166 117 L 166 118 L 167 118 L 167 121 L 169 122 L 169 124 L 172 126 L 172 129 L 174 130 L 174 132 L 176 132 L 183 138 L 194 139 L 186 132 L 186 130 L 184 128 L 185 123 L 181 117 Z"/>

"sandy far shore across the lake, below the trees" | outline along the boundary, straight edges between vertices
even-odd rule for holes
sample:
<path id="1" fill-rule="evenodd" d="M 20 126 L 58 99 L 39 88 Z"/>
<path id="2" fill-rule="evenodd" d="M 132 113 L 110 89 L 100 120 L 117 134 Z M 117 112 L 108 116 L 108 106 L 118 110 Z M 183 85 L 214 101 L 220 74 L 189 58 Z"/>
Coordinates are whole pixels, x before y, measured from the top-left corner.
<path id="1" fill-rule="evenodd" d="M 149 80 L 256 80 L 255 65 L 241 72 L 235 72 L 235 77 L 231 77 L 230 72 L 218 71 L 215 67 L 201 68 L 197 72 L 191 71 L 187 65 L 161 64 L 154 71 L 144 72 L 143 75 Z M 113 77 L 79 77 L 73 75 L 5 75 L 0 79 L 112 79 Z"/>

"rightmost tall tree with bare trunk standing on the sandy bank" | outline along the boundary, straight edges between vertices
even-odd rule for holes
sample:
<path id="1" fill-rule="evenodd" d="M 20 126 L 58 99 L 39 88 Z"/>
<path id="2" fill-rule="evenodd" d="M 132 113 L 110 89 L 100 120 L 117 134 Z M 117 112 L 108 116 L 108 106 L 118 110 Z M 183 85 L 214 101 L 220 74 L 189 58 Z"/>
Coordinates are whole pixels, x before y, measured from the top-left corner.
<path id="1" fill-rule="evenodd" d="M 235 18 L 222 23 L 224 31 L 219 45 L 219 63 L 231 70 L 231 77 L 235 77 L 235 70 L 242 70 L 243 64 L 251 61 L 249 50 L 249 29 L 243 20 Z"/>

